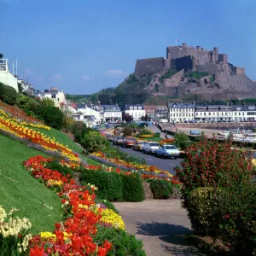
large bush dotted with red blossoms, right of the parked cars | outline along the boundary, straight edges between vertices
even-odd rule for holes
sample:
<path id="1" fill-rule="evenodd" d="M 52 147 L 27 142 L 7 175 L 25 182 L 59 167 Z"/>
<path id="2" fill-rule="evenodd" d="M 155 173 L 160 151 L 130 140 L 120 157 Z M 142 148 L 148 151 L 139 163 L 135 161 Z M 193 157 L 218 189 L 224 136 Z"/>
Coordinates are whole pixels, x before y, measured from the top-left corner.
<path id="1" fill-rule="evenodd" d="M 251 183 L 253 166 L 247 160 L 247 152 L 231 148 L 230 142 L 218 143 L 202 137 L 200 143 L 193 143 L 186 150 L 186 158 L 175 168 L 183 183 L 183 198 L 189 192 L 201 187 L 236 187 Z"/>

